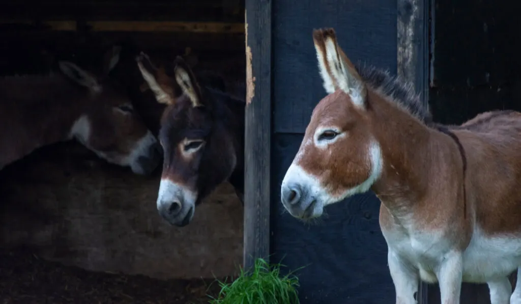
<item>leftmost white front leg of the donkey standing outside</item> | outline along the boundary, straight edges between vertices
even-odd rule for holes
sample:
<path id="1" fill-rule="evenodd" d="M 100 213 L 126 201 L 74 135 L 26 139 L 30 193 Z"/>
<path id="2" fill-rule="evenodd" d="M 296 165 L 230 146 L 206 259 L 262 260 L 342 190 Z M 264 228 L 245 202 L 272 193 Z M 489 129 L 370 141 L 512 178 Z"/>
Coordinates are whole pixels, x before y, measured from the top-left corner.
<path id="1" fill-rule="evenodd" d="M 396 304 L 416 304 L 418 271 L 390 248 L 387 253 L 387 261 L 396 290 Z"/>

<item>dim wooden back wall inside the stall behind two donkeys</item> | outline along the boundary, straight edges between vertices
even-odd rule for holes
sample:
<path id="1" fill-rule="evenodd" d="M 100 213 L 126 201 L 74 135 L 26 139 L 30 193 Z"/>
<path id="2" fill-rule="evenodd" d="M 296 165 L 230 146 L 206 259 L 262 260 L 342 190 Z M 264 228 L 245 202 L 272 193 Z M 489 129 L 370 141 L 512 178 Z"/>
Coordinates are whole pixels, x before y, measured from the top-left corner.
<path id="1" fill-rule="evenodd" d="M 20 17 L 20 10 L 30 3 L 22 1 L 3 7 L 0 21 Z M 72 7 L 55 1 L 38 7 L 41 14 L 31 10 L 21 16 L 80 21 L 244 22 L 240 1 L 191 3 L 199 6 L 185 2 L 114 1 L 99 6 L 81 2 Z M 190 47 L 193 54 L 190 62 L 196 69 L 217 71 L 226 76 L 230 91 L 243 94 L 243 33 L 97 32 L 93 35 L 94 41 L 99 39 L 104 45 L 130 40 L 156 63 L 168 62 Z M 70 59 L 96 64 L 95 55 L 85 53 L 85 49 L 81 50 L 82 55 L 67 53 L 78 42 L 75 32 L 0 25 L 0 37 L 4 41 L 0 47 L 0 53 L 4 54 L 0 59 L 3 75 L 45 72 L 47 66 L 36 57 L 42 48 L 49 46 L 61 55 L 68 54 Z M 92 52 L 100 51 L 89 41 L 83 41 L 82 45 L 92 47 Z M 147 105 L 154 103 L 150 91 L 140 98 L 144 100 L 141 111 L 145 112 L 145 121 L 157 133 L 161 108 Z M 197 207 L 193 222 L 178 228 L 166 224 L 157 213 L 159 178 L 159 171 L 152 177 L 142 177 L 129 169 L 109 165 L 74 142 L 40 149 L 0 171 L 0 247 L 26 247 L 43 259 L 94 271 L 158 278 L 212 278 L 236 273 L 242 263 L 243 207 L 231 185 L 219 187 Z"/>

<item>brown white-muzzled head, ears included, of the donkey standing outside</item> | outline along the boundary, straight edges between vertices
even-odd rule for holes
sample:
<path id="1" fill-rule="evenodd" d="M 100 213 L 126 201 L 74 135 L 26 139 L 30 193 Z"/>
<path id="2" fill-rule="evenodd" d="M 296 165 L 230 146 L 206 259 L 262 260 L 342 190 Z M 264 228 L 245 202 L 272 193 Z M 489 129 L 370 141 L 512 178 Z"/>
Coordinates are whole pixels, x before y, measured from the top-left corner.
<path id="1" fill-rule="evenodd" d="M 338 46 L 333 29 L 315 30 L 320 75 L 329 94 L 311 116 L 281 200 L 295 217 L 320 216 L 324 206 L 362 193 L 380 177 L 382 152 L 374 136 L 371 99 L 379 98 Z"/>

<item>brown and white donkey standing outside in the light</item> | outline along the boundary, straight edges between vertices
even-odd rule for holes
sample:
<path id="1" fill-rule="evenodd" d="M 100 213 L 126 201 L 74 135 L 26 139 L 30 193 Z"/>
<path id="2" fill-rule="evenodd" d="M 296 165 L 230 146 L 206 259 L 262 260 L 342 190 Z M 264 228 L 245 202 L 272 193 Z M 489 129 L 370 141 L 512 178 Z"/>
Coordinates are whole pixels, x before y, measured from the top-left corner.
<path id="1" fill-rule="evenodd" d="M 462 282 L 521 303 L 521 279 L 512 294 L 507 278 L 521 265 L 521 114 L 434 124 L 411 86 L 353 66 L 333 29 L 313 40 L 328 95 L 282 181 L 284 207 L 305 220 L 373 190 L 396 303 L 416 303 L 418 279 L 439 282 L 443 304 L 460 303 Z"/>

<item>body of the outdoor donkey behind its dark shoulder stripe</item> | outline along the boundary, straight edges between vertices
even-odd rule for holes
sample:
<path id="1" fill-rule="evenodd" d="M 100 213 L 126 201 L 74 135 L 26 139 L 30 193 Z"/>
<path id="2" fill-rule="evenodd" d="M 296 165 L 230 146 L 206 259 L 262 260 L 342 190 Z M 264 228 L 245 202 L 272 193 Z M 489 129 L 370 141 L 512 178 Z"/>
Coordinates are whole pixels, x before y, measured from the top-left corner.
<path id="1" fill-rule="evenodd" d="M 482 113 L 454 133 L 465 151 L 466 210 L 474 220 L 464 281 L 506 276 L 521 266 L 521 113 Z"/>

